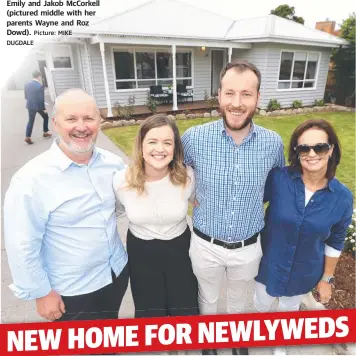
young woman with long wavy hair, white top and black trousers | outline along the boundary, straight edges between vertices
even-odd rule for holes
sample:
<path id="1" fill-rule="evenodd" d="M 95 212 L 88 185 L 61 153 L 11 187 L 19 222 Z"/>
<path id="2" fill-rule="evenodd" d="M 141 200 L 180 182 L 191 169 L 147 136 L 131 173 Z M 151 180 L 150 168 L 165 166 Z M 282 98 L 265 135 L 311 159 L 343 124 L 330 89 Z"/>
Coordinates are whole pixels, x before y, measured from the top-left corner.
<path id="1" fill-rule="evenodd" d="M 165 115 L 149 117 L 136 136 L 133 162 L 114 177 L 118 209 L 129 219 L 135 317 L 199 314 L 186 218 L 194 188 L 175 122 Z"/>

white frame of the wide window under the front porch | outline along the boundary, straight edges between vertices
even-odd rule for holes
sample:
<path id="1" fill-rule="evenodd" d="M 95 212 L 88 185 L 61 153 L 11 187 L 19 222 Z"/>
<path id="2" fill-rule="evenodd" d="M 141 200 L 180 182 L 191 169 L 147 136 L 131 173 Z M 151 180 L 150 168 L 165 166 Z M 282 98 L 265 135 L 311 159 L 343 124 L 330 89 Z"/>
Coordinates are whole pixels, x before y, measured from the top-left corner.
<path id="1" fill-rule="evenodd" d="M 116 72 L 115 72 L 115 57 L 114 53 L 115 52 L 127 52 L 127 51 L 132 51 L 134 55 L 134 71 L 135 71 L 135 78 L 132 79 L 116 79 Z M 137 79 L 137 68 L 136 68 L 136 52 L 151 52 L 154 53 L 155 55 L 155 78 L 154 79 Z M 113 79 L 114 79 L 114 91 L 118 93 L 124 93 L 124 92 L 138 92 L 138 91 L 148 91 L 150 90 L 149 86 L 147 88 L 138 88 L 137 83 L 138 81 L 144 82 L 144 81 L 155 81 L 157 85 L 158 80 L 171 80 L 173 81 L 173 78 L 158 78 L 157 77 L 157 52 L 165 52 L 165 53 L 172 53 L 171 48 L 159 48 L 159 47 L 121 47 L 121 46 L 114 46 L 111 48 L 111 61 L 112 61 L 112 71 L 113 71 Z M 179 48 L 177 49 L 176 53 L 190 53 L 191 55 L 191 76 L 190 77 L 177 77 L 176 80 L 183 80 L 183 79 L 190 79 L 192 81 L 192 85 L 187 86 L 187 89 L 192 89 L 194 88 L 194 51 L 191 48 Z M 136 88 L 132 89 L 116 89 L 116 83 L 117 82 L 136 82 Z M 167 90 L 168 86 L 163 86 L 163 90 Z"/>

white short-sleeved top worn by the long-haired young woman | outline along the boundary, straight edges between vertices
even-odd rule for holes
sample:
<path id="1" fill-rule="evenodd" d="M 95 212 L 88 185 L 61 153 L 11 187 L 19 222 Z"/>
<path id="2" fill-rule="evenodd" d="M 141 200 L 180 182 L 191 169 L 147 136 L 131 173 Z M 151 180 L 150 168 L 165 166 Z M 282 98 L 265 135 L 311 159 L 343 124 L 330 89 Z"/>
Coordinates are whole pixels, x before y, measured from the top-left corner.
<path id="1" fill-rule="evenodd" d="M 143 240 L 171 240 L 187 228 L 188 200 L 194 199 L 194 172 L 188 168 L 190 181 L 186 187 L 175 186 L 164 178 L 145 183 L 145 192 L 127 189 L 126 169 L 114 176 L 114 191 L 118 211 L 126 211 L 129 229 Z"/>

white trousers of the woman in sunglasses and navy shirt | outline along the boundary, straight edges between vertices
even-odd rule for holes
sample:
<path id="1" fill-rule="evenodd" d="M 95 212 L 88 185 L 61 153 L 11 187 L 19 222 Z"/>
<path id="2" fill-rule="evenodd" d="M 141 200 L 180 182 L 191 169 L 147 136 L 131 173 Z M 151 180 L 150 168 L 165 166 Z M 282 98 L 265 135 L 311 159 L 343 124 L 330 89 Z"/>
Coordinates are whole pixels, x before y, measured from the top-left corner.
<path id="1" fill-rule="evenodd" d="M 293 297 L 278 297 L 279 303 L 277 311 L 298 311 L 303 297 L 304 294 L 295 295 Z M 256 282 L 253 301 L 257 311 L 268 312 L 276 298 L 277 297 L 271 297 L 267 293 L 266 286 L 264 284 Z"/>

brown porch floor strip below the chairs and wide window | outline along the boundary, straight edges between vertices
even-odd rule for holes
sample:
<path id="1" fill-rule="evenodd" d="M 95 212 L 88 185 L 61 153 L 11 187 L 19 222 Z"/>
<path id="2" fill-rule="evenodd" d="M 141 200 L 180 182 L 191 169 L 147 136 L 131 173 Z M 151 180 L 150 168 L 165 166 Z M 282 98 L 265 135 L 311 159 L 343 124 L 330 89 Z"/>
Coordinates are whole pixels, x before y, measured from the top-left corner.
<path id="1" fill-rule="evenodd" d="M 210 112 L 213 109 L 216 109 L 217 106 L 214 105 L 212 106 L 212 104 L 206 102 L 205 100 L 197 100 L 197 101 L 193 101 L 193 102 L 186 102 L 186 103 L 179 103 L 178 104 L 178 110 L 176 111 L 172 111 L 172 104 L 161 104 L 161 105 L 157 105 L 157 110 L 155 112 L 155 114 L 160 114 L 160 113 L 165 113 L 165 114 L 178 114 L 180 112 L 185 112 L 185 111 L 191 111 L 191 112 Z M 112 114 L 113 117 L 117 116 L 117 109 L 115 107 L 113 107 L 112 109 Z M 104 118 L 108 118 L 110 117 L 110 115 L 108 116 L 108 109 L 104 108 L 104 109 L 100 109 L 100 114 L 102 117 Z M 147 108 L 146 105 L 137 105 L 133 107 L 133 112 L 132 112 L 132 116 L 133 117 L 145 117 L 145 116 L 149 116 L 152 115 L 151 111 Z"/>

